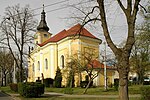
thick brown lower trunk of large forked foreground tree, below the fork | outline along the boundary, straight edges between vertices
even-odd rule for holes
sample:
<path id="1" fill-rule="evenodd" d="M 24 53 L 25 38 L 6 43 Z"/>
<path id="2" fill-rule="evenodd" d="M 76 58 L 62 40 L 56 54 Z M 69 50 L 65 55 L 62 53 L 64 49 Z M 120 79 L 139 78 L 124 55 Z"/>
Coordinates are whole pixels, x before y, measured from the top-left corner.
<path id="1" fill-rule="evenodd" d="M 128 73 L 129 73 L 129 57 L 127 52 L 123 51 L 118 57 L 119 72 L 119 100 L 129 100 L 128 96 Z"/>

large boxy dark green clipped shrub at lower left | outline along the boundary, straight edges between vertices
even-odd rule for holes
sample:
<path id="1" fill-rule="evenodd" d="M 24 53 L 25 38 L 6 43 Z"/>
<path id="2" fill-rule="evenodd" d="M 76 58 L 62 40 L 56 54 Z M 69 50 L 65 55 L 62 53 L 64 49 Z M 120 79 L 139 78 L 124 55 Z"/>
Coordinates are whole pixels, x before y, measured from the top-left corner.
<path id="1" fill-rule="evenodd" d="M 23 97 L 39 97 L 44 94 L 44 84 L 37 82 L 18 83 L 18 92 Z"/>

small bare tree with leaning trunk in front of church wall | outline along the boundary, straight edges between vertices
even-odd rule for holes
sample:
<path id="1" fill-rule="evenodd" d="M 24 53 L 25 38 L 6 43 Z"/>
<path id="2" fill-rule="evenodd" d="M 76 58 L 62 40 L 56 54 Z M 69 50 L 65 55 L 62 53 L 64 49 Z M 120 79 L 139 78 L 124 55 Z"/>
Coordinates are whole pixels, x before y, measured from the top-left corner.
<path id="1" fill-rule="evenodd" d="M 69 64 L 69 68 L 71 69 L 72 75 L 81 74 L 85 72 L 89 78 L 88 84 L 83 92 L 86 94 L 88 88 L 92 81 L 99 75 L 101 71 L 101 65 L 97 66 L 96 62 L 99 63 L 99 55 L 93 49 L 88 49 L 84 53 L 74 54 L 71 57 Z M 80 78 L 80 75 L 79 75 Z M 80 80 L 81 81 L 81 80 Z M 72 82 L 71 82 L 72 83 Z"/>

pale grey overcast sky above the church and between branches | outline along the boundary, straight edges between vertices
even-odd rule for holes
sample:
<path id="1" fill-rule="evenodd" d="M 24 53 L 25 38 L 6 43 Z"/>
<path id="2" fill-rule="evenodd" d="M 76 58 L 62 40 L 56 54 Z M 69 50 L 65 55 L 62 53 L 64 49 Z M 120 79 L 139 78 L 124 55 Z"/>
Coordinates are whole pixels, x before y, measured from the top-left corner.
<path id="1" fill-rule="evenodd" d="M 46 13 L 46 21 L 50 28 L 50 33 L 56 34 L 63 29 L 68 29 L 70 25 L 68 25 L 69 22 L 65 18 L 68 18 L 72 11 L 75 8 L 73 7 L 66 7 L 67 5 L 76 5 L 78 4 L 78 1 L 90 1 L 87 3 L 83 2 L 83 5 L 89 5 L 89 3 L 93 3 L 94 0 L 0 0 L 0 21 L 2 20 L 2 17 L 4 16 L 5 8 L 8 6 L 14 6 L 16 4 L 20 4 L 21 7 L 24 7 L 25 5 L 30 5 L 31 9 L 37 9 L 39 7 L 42 7 L 42 5 L 45 5 L 45 12 Z M 113 0 L 114 1 L 114 0 Z M 115 0 L 116 1 L 116 0 Z M 57 4 L 55 4 L 57 3 Z M 54 4 L 54 5 L 52 5 Z M 77 5 L 79 7 L 79 5 Z M 35 14 L 38 14 L 35 16 L 35 18 L 40 20 L 40 13 L 42 11 L 41 9 L 34 10 Z M 74 10 L 75 11 L 75 10 Z M 113 41 L 116 44 L 121 43 L 123 40 L 125 40 L 127 36 L 127 28 L 126 28 L 126 22 L 125 17 L 123 16 L 122 12 L 120 12 L 120 8 L 116 4 L 116 2 L 109 2 L 107 3 L 107 19 L 109 21 L 110 25 L 110 33 L 113 37 Z M 76 12 L 74 12 L 76 13 Z M 137 22 L 140 22 L 142 19 L 139 17 L 137 19 Z M 71 20 L 69 20 L 71 21 Z M 92 32 L 94 35 L 99 37 L 100 39 L 104 40 L 104 37 L 102 35 L 102 30 L 100 29 L 100 24 L 97 29 L 91 30 L 88 29 L 90 32 Z"/>

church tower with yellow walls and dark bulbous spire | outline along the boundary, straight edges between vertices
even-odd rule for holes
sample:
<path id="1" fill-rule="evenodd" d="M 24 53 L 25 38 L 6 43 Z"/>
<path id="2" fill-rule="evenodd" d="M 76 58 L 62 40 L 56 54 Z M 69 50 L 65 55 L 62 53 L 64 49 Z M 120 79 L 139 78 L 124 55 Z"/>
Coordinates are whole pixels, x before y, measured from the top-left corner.
<path id="1" fill-rule="evenodd" d="M 45 11 L 44 11 L 44 5 L 43 5 L 43 11 L 41 12 L 41 20 L 37 27 L 37 32 L 34 35 L 34 41 L 35 44 L 41 44 L 44 41 L 48 40 L 51 37 L 51 33 L 49 33 L 49 27 L 47 26 L 46 20 L 45 20 Z"/>

